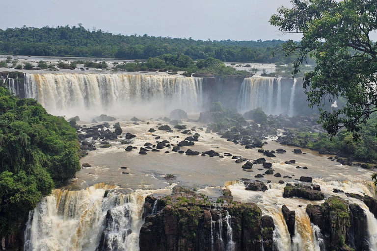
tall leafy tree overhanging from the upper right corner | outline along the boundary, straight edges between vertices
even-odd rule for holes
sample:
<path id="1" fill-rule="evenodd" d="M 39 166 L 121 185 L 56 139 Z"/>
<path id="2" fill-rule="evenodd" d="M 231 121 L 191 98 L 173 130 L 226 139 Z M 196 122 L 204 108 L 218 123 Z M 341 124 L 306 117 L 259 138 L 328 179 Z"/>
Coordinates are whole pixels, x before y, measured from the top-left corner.
<path id="1" fill-rule="evenodd" d="M 301 33 L 302 40 L 282 45 L 286 56 L 295 55 L 293 75 L 309 57 L 313 71 L 304 75 L 303 87 L 311 106 L 342 98 L 346 105 L 327 112 L 319 123 L 329 135 L 345 128 L 359 138 L 359 130 L 377 111 L 377 0 L 292 0 L 280 7 L 269 23 L 283 33 Z"/>

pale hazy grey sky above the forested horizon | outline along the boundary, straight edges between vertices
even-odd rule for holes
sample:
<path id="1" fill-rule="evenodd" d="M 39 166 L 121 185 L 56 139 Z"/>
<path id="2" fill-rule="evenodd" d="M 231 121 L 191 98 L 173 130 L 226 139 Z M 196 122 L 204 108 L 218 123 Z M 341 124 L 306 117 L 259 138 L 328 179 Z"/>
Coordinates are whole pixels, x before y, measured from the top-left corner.
<path id="1" fill-rule="evenodd" d="M 76 25 L 113 34 L 207 40 L 299 40 L 269 17 L 290 0 L 2 0 L 0 28 Z"/>

